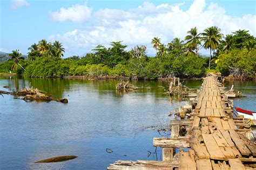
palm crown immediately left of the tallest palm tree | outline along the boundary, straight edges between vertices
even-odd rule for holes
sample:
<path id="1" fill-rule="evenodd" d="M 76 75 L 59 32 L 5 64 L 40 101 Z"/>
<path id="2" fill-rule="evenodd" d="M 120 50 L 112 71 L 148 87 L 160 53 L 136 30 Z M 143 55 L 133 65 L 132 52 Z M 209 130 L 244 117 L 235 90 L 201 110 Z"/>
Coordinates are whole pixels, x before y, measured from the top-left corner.
<path id="1" fill-rule="evenodd" d="M 188 35 L 185 37 L 185 40 L 187 41 L 187 43 L 192 44 L 194 46 L 194 49 L 196 50 L 196 53 L 198 53 L 198 45 L 201 44 L 201 37 L 200 37 L 200 33 L 198 33 L 197 28 L 191 28 L 190 31 L 187 31 Z"/>

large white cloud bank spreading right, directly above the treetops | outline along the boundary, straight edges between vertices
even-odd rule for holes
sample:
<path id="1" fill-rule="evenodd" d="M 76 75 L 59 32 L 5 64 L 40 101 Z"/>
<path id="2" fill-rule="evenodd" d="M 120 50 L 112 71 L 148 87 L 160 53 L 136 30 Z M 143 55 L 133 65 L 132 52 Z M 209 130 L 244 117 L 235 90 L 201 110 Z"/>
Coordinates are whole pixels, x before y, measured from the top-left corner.
<path id="1" fill-rule="evenodd" d="M 123 40 L 124 44 L 133 47 L 144 44 L 148 53 L 154 53 L 151 39 L 161 38 L 167 44 L 174 37 L 184 39 L 186 32 L 197 26 L 202 32 L 209 26 L 218 26 L 226 35 L 239 29 L 249 30 L 256 35 L 255 15 L 233 17 L 215 3 L 206 4 L 205 0 L 194 0 L 188 10 L 180 8 L 182 4 L 160 4 L 144 2 L 136 9 L 116 10 L 100 9 L 93 15 L 96 26 L 68 31 L 63 35 L 52 35 L 51 40 L 59 39 L 74 51 L 90 51 L 98 44 L 107 45 L 111 41 Z"/>

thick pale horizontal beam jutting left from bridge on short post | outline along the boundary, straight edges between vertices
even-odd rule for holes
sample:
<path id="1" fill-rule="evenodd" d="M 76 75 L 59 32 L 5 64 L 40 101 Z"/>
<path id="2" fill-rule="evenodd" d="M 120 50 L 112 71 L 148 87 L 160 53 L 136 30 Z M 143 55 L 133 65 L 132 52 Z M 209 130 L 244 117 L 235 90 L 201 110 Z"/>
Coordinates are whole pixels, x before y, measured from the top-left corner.
<path id="1" fill-rule="evenodd" d="M 158 147 L 190 147 L 184 140 L 167 139 L 167 138 L 153 138 L 153 146 Z"/>

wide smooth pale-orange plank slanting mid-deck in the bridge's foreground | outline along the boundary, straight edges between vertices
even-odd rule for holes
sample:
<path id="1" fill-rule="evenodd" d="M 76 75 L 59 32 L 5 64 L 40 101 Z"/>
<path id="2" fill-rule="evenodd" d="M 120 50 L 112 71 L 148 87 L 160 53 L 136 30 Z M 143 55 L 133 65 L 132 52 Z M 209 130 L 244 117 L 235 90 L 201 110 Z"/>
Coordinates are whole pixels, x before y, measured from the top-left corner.
<path id="1" fill-rule="evenodd" d="M 211 159 L 223 160 L 224 154 L 220 151 L 218 144 L 213 138 L 212 134 L 202 134 L 205 142 L 206 149 L 210 154 Z"/>

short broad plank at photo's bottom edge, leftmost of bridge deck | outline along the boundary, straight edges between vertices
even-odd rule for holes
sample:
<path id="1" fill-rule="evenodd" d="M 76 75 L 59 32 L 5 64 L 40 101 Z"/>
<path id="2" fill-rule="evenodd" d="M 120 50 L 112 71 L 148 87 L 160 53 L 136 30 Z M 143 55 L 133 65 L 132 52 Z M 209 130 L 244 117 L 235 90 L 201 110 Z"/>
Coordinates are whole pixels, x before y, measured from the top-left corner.
<path id="1" fill-rule="evenodd" d="M 194 169 L 197 170 L 196 162 L 194 162 L 188 152 L 180 152 L 179 153 L 179 169 Z"/>

